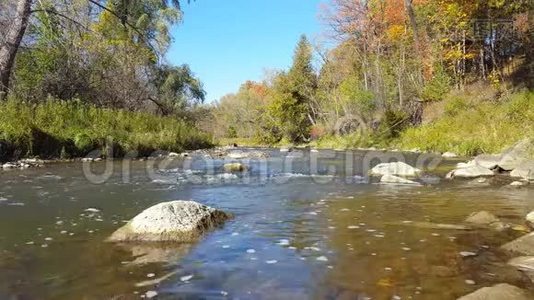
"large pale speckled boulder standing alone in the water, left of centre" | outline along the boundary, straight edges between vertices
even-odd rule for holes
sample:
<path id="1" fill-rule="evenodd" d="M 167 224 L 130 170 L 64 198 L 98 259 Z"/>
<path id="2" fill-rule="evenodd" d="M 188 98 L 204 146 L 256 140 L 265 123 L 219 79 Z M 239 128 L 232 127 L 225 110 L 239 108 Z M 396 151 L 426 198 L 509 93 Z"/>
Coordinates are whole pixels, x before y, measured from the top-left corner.
<path id="1" fill-rule="evenodd" d="M 231 215 L 193 201 L 156 204 L 115 231 L 112 242 L 194 242 Z"/>

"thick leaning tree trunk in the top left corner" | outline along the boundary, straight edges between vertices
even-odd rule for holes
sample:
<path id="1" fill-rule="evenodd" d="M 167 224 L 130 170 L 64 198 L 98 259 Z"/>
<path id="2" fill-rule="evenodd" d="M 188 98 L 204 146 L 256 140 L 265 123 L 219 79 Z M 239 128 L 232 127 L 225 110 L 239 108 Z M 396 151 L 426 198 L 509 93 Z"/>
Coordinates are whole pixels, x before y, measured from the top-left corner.
<path id="1" fill-rule="evenodd" d="M 11 69 L 30 19 L 31 4 L 32 0 L 17 1 L 15 19 L 7 30 L 4 44 L 0 46 L 0 99 L 7 95 Z"/>

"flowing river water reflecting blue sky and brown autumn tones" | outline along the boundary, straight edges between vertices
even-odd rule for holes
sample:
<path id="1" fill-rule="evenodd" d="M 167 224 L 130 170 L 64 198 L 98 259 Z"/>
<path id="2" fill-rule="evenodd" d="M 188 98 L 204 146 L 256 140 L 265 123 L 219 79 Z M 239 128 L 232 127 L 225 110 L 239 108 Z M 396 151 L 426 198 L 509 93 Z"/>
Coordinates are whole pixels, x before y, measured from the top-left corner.
<path id="1" fill-rule="evenodd" d="M 456 299 L 500 282 L 532 288 L 498 249 L 521 232 L 431 224 L 480 210 L 520 224 L 534 189 L 439 180 L 455 161 L 432 156 L 405 157 L 432 166 L 424 185 L 389 186 L 362 177 L 362 162 L 376 163 L 367 153 L 323 151 L 314 163 L 308 151 L 266 151 L 238 176 L 200 157 L 112 162 L 103 183 L 81 163 L 0 172 L 0 299 Z M 235 217 L 192 245 L 104 241 L 175 199 Z"/>

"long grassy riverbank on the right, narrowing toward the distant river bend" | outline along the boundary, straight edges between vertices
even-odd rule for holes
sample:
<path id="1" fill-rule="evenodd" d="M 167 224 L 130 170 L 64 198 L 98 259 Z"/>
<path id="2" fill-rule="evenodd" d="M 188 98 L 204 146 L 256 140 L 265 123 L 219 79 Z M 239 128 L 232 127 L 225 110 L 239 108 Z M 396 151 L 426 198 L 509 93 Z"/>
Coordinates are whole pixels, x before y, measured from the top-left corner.
<path id="1" fill-rule="evenodd" d="M 303 145 L 280 141 L 263 145 L 254 139 L 222 139 L 240 146 L 310 146 L 317 149 L 387 149 L 455 153 L 459 156 L 500 153 L 534 136 L 534 92 L 519 92 L 499 99 L 480 99 L 469 92 L 427 104 L 421 126 L 408 127 L 398 136 L 382 132 L 326 135 Z"/>

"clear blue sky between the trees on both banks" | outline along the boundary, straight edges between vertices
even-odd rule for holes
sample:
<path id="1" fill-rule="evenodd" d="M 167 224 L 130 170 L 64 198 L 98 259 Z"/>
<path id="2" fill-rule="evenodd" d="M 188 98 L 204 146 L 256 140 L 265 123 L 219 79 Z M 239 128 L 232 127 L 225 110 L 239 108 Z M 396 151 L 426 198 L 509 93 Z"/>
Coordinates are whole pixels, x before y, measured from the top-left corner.
<path id="1" fill-rule="evenodd" d="M 183 23 L 173 28 L 167 60 L 189 64 L 207 91 L 207 101 L 235 92 L 264 70 L 285 69 L 301 34 L 313 40 L 325 0 L 183 1 Z"/>

